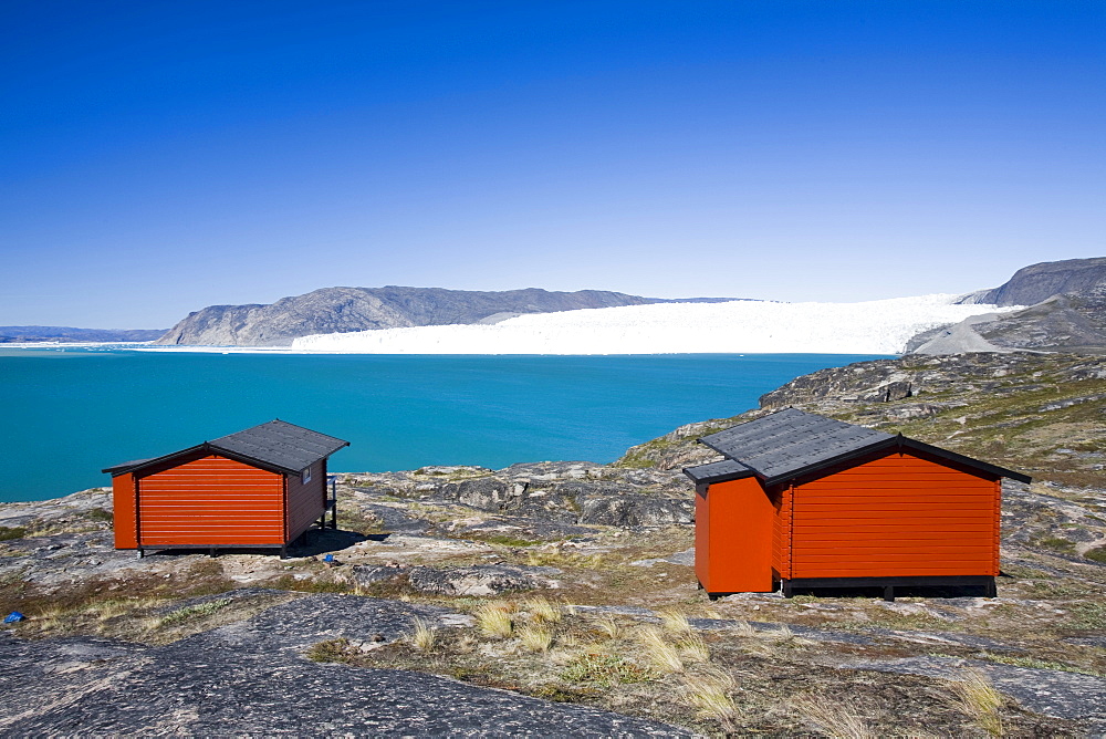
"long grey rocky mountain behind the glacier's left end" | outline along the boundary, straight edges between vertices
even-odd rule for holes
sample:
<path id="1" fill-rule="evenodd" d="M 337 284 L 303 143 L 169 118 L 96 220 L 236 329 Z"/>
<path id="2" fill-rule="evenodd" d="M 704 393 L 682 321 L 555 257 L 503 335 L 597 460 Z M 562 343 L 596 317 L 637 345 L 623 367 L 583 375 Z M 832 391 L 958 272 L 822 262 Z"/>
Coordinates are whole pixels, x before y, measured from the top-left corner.
<path id="1" fill-rule="evenodd" d="M 695 298 L 721 302 L 728 298 Z M 157 344 L 286 346 L 310 334 L 374 329 L 494 323 L 522 313 L 553 313 L 583 308 L 688 302 L 641 298 L 604 290 L 550 292 L 538 288 L 503 292 L 444 288 L 323 288 L 282 298 L 269 305 L 210 305 L 189 313 Z"/>

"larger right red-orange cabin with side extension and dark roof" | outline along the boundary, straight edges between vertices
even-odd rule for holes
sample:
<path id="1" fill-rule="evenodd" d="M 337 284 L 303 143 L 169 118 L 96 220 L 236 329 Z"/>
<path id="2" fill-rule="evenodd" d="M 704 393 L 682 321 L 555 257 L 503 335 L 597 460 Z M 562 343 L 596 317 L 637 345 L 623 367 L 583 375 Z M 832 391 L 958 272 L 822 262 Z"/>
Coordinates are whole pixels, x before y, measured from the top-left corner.
<path id="1" fill-rule="evenodd" d="M 696 575 L 712 596 L 807 587 L 981 586 L 999 574 L 1002 478 L 1030 478 L 794 408 L 700 441 Z"/>

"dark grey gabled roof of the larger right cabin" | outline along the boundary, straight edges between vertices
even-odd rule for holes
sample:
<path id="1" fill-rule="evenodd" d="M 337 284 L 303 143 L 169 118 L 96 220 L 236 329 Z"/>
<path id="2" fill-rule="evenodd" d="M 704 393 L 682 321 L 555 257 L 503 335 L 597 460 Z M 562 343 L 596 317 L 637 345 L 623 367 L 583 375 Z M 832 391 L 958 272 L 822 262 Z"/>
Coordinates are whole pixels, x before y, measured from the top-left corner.
<path id="1" fill-rule="evenodd" d="M 747 477 L 751 471 L 765 485 L 775 485 L 860 455 L 889 448 L 908 448 L 975 469 L 984 475 L 1009 477 L 1022 482 L 1030 481 L 1029 477 L 1020 472 L 916 439 L 901 435 L 893 436 L 796 408 L 786 408 L 739 424 L 724 431 L 705 436 L 699 441 L 726 456 L 727 459 L 685 469 L 685 475 L 697 483 Z M 738 467 L 732 469 L 719 467 L 726 462 L 737 464 Z"/>

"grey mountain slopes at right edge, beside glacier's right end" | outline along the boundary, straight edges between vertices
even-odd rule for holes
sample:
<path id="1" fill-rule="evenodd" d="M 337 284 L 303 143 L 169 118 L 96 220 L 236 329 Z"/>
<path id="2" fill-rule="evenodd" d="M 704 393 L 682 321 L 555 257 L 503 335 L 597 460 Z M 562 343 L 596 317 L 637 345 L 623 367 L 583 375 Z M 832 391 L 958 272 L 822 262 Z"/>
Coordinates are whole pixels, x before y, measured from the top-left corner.
<path id="1" fill-rule="evenodd" d="M 972 293 L 963 302 L 1027 308 L 977 315 L 918 334 L 910 340 L 907 352 L 1029 350 L 1106 354 L 1106 257 L 1031 264 L 1001 287 Z"/>

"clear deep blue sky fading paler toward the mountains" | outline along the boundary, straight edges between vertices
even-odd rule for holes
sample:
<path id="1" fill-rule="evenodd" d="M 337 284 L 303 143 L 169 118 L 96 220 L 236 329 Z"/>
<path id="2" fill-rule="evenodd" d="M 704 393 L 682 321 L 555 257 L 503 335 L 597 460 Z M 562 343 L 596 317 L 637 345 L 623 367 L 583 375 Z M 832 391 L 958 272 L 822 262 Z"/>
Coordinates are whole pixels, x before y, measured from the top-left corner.
<path id="1" fill-rule="evenodd" d="M 0 324 L 864 300 L 1106 254 L 1106 2 L 11 0 Z"/>

